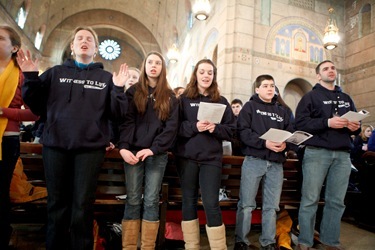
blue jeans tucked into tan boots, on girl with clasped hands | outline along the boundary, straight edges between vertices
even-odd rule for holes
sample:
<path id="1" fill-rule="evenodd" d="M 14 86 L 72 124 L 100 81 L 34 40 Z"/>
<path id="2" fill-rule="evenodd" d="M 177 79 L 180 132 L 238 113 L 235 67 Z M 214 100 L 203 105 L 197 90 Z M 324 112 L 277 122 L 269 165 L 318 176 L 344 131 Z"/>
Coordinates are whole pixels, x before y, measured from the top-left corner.
<path id="1" fill-rule="evenodd" d="M 159 220 L 159 193 L 167 163 L 167 153 L 149 156 L 135 165 L 124 163 L 127 194 L 124 220 L 141 218 L 143 178 L 145 184 L 142 219 Z"/>

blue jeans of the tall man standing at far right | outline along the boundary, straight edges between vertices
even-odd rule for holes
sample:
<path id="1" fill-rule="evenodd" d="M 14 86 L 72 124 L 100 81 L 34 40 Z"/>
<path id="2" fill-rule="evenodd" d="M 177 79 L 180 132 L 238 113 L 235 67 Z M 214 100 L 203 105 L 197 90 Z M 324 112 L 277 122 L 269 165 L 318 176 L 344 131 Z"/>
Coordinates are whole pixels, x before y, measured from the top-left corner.
<path id="1" fill-rule="evenodd" d="M 302 199 L 299 209 L 300 244 L 312 246 L 316 211 L 324 181 L 325 205 L 320 224 L 320 240 L 330 246 L 340 244 L 341 217 L 351 171 L 350 155 L 345 151 L 306 147 L 302 162 Z"/>

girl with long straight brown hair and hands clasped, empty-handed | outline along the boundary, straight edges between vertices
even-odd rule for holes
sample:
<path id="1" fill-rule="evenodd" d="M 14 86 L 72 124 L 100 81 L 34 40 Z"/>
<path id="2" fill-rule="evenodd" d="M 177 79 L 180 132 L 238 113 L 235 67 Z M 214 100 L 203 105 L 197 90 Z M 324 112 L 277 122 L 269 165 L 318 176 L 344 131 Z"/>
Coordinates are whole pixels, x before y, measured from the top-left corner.
<path id="1" fill-rule="evenodd" d="M 150 52 L 143 61 L 139 82 L 126 91 L 129 109 L 120 125 L 119 141 L 127 191 L 122 220 L 123 249 L 137 249 L 141 220 L 141 249 L 155 248 L 159 192 L 168 162 L 167 151 L 178 128 L 178 102 L 166 75 L 163 56 Z"/>

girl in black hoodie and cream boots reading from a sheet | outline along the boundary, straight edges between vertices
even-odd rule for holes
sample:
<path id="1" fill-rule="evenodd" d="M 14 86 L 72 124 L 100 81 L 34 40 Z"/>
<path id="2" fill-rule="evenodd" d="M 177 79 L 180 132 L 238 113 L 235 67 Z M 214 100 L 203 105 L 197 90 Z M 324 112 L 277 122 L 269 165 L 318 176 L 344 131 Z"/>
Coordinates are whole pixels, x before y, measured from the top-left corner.
<path id="1" fill-rule="evenodd" d="M 226 249 L 225 226 L 219 206 L 222 141 L 231 140 L 235 119 L 227 99 L 220 96 L 216 74 L 211 60 L 200 60 L 180 96 L 180 128 L 174 153 L 182 188 L 181 225 L 186 249 L 199 249 L 199 187 L 210 246 L 212 249 Z M 226 106 L 220 123 L 198 120 L 201 102 Z"/>

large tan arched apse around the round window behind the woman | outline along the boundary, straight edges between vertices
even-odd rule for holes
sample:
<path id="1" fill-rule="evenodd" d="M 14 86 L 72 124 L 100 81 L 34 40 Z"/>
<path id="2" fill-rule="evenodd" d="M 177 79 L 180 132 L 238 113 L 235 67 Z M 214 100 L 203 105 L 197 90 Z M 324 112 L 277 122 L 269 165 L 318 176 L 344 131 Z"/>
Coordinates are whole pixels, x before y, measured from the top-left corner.
<path id="1" fill-rule="evenodd" d="M 102 18 L 98 19 L 97 16 Z M 71 32 L 77 27 L 77 24 L 93 27 L 98 33 L 99 42 L 111 38 L 120 44 L 122 53 L 119 58 L 113 61 L 104 60 L 99 55 L 95 58 L 96 61 L 103 62 L 104 67 L 109 71 L 117 70 L 119 65 L 124 62 L 132 67 L 140 67 L 143 56 L 148 51 L 160 51 L 152 33 L 136 19 L 119 11 L 95 9 L 78 12 L 62 20 L 43 39 L 41 48 L 43 58 L 59 63 L 64 54 L 70 54 Z"/>

